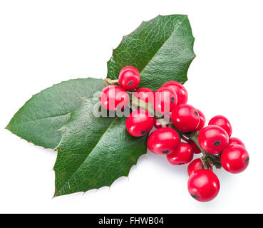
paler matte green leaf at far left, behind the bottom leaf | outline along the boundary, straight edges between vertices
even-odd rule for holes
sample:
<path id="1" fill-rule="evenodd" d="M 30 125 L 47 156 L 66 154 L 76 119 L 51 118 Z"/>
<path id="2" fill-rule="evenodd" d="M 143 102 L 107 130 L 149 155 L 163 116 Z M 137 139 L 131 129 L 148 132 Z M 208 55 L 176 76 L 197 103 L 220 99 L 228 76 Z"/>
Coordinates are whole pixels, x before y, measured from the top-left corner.
<path id="1" fill-rule="evenodd" d="M 104 87 L 103 80 L 75 79 L 54 85 L 33 97 L 14 115 L 7 129 L 46 148 L 55 148 L 61 140 L 58 131 L 81 104 L 81 97 L 92 96 Z"/>

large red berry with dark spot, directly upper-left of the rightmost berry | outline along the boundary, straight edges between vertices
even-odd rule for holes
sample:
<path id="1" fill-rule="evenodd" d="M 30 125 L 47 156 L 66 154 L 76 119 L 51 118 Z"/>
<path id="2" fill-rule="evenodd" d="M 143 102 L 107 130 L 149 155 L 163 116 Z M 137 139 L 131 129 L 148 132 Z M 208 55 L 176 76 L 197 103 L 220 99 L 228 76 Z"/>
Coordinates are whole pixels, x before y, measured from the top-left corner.
<path id="1" fill-rule="evenodd" d="M 199 145 L 206 152 L 215 155 L 220 154 L 228 146 L 227 132 L 217 125 L 209 125 L 202 128 L 199 134 Z"/>

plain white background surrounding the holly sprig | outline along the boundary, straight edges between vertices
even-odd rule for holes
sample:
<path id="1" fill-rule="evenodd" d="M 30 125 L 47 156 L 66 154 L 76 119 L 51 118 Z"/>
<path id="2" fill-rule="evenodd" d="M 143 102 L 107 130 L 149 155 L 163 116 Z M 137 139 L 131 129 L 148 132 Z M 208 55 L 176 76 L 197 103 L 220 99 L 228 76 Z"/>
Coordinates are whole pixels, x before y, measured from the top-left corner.
<path id="1" fill-rule="evenodd" d="M 0 1 L 0 212 L 263 212 L 261 1 Z M 52 199 L 56 152 L 4 130 L 31 95 L 70 78 L 104 78 L 123 35 L 158 14 L 187 14 L 197 57 L 185 86 L 207 120 L 230 119 L 250 153 L 239 175 L 217 170 L 220 195 L 187 192 L 187 166 L 165 156 L 138 161 L 129 178 Z"/>

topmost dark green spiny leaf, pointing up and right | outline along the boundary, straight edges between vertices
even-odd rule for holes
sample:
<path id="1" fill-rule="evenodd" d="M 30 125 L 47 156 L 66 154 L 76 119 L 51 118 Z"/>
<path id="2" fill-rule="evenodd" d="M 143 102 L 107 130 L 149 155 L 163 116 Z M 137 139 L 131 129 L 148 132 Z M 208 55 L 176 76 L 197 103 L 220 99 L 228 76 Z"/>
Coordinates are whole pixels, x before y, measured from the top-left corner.
<path id="1" fill-rule="evenodd" d="M 185 15 L 157 16 L 123 36 L 108 61 L 108 78 L 117 79 L 124 66 L 140 71 L 140 88 L 153 90 L 167 81 L 187 81 L 187 70 L 195 58 L 190 22 Z"/>

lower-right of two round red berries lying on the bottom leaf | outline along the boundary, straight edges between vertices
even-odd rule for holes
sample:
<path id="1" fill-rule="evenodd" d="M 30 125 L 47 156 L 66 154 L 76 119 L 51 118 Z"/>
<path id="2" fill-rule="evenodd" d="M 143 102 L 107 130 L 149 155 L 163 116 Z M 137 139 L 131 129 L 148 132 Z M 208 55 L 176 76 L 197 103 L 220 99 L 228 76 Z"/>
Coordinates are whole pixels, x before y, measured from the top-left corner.
<path id="1" fill-rule="evenodd" d="M 146 135 L 153 128 L 153 116 L 147 110 L 135 110 L 126 119 L 126 128 L 135 137 Z"/>

